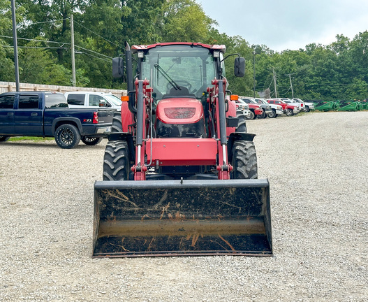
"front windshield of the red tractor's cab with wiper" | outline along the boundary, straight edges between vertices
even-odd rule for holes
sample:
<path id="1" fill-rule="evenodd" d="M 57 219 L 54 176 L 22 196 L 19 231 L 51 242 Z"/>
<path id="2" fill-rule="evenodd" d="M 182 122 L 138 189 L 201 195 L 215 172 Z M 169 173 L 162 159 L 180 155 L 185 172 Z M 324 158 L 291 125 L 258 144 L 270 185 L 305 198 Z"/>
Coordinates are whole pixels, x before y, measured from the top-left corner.
<path id="1" fill-rule="evenodd" d="M 216 75 L 216 62 L 207 48 L 169 45 L 152 48 L 141 65 L 141 78 L 150 81 L 156 99 L 172 89 L 201 98 Z M 188 90 L 186 90 L 188 89 Z"/>

